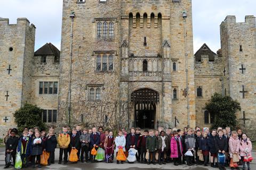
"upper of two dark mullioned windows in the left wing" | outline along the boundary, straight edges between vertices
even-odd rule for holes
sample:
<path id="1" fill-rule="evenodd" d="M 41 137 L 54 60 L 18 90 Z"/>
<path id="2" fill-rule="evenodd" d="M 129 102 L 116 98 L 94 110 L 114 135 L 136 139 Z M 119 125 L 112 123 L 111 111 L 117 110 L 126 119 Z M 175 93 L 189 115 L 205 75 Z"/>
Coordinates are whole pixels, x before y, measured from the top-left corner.
<path id="1" fill-rule="evenodd" d="M 45 87 L 45 84 L 47 84 L 47 87 Z M 59 84 L 58 81 L 39 81 L 38 94 L 39 95 L 58 95 L 58 84 Z M 47 89 L 47 92 L 45 92 L 46 89 Z"/>

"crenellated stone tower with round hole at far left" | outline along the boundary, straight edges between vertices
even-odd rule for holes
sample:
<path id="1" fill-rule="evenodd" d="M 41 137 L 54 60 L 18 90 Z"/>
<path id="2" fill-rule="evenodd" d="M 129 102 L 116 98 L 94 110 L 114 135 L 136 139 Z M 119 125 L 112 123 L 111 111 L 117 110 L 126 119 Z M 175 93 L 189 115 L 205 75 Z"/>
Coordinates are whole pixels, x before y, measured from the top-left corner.
<path id="1" fill-rule="evenodd" d="M 9 24 L 9 19 L 0 18 L 1 135 L 6 134 L 7 128 L 15 126 L 13 113 L 30 101 L 35 29 L 26 18 L 18 18 L 17 24 Z"/>

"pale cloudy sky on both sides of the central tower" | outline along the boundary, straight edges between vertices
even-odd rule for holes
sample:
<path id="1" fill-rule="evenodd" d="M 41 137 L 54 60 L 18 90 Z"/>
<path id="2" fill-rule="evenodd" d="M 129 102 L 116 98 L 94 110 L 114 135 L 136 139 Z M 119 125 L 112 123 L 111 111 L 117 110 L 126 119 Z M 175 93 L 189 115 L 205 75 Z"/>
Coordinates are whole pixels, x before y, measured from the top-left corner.
<path id="1" fill-rule="evenodd" d="M 236 15 L 237 22 L 244 22 L 245 15 L 256 16 L 254 0 L 192 0 L 192 5 L 194 53 L 204 43 L 217 52 L 219 25 L 227 15 Z M 36 25 L 35 50 L 45 43 L 60 49 L 62 0 L 0 0 L 0 17 L 9 18 L 11 24 L 27 18 Z"/>

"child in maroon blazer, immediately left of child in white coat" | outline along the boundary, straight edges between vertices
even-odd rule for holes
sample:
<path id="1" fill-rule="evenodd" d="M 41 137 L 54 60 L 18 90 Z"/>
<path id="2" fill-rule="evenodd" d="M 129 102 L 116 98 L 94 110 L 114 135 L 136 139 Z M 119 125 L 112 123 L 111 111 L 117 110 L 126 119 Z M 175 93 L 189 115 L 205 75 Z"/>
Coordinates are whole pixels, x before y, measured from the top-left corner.
<path id="1" fill-rule="evenodd" d="M 107 163 L 113 163 L 114 145 L 115 145 L 115 138 L 113 137 L 113 131 L 109 131 L 108 136 L 106 137 L 104 142 L 105 156 L 106 156 L 105 160 Z M 110 155 L 111 155 L 111 159 L 110 159 Z"/>

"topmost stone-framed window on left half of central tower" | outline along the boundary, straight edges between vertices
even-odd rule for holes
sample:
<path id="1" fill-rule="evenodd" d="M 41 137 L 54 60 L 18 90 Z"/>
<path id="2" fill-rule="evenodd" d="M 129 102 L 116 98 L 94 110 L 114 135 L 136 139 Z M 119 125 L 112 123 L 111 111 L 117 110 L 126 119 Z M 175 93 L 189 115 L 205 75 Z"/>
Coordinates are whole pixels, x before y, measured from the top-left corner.
<path id="1" fill-rule="evenodd" d="M 95 18 L 93 22 L 95 22 L 96 30 L 95 30 L 95 38 L 97 40 L 104 39 L 114 39 L 115 38 L 115 21 L 116 18 Z M 100 24 L 101 23 L 101 24 Z M 107 32 L 104 23 L 107 23 Z M 103 36 L 103 35 L 106 36 Z"/>

